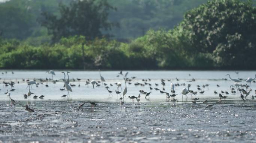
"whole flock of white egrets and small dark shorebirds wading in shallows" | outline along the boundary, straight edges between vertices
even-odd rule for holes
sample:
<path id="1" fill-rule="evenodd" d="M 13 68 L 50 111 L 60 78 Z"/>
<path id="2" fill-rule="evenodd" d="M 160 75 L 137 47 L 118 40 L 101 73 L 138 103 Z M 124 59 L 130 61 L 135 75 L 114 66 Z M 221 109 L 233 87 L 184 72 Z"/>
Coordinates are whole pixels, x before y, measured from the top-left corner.
<path id="1" fill-rule="evenodd" d="M 56 82 L 59 82 L 59 80 L 53 80 L 53 76 L 55 75 L 55 72 L 54 72 L 53 70 L 49 70 L 49 71 L 47 71 L 47 73 L 52 74 L 52 79 L 47 79 L 47 78 L 46 78 L 46 79 L 34 79 L 34 80 L 32 80 L 32 81 L 22 79 L 24 82 L 27 82 L 27 84 L 28 84 L 27 88 L 29 88 L 29 89 L 28 89 L 28 93 L 27 93 L 27 94 L 24 94 L 24 98 L 25 98 L 25 99 L 28 99 L 28 104 L 30 104 L 30 101 L 31 101 L 30 97 L 32 96 L 32 94 L 34 94 L 34 93 L 30 92 L 30 88 L 32 88 L 33 85 L 35 85 L 36 87 L 38 87 L 39 84 L 43 84 L 44 82 L 48 82 L 48 81 L 51 81 L 51 82 L 54 83 L 54 84 L 55 84 Z M 63 88 L 60 88 L 60 90 L 62 90 L 62 91 L 63 91 L 63 90 L 67 90 L 67 95 L 62 95 L 61 97 L 62 97 L 62 98 L 66 98 L 66 97 L 69 98 L 70 92 L 73 92 L 73 90 L 72 90 L 71 87 L 72 87 L 72 86 L 76 86 L 76 85 L 72 85 L 72 84 L 70 83 L 70 81 L 72 80 L 72 81 L 74 82 L 75 79 L 69 79 L 68 73 L 70 73 L 70 72 L 68 72 L 68 71 L 67 71 L 67 76 L 68 76 L 67 79 L 66 79 L 66 74 L 65 74 L 65 72 L 61 72 L 61 73 L 64 74 L 64 79 L 61 79 L 61 80 L 64 82 L 64 86 L 63 86 Z M 112 95 L 113 91 L 110 90 L 109 86 L 114 86 L 114 85 L 112 85 L 111 83 L 110 83 L 109 85 L 107 85 L 106 83 L 104 83 L 104 82 L 106 82 L 106 80 L 104 79 L 103 76 L 101 76 L 100 70 L 99 70 L 99 73 L 100 73 L 100 81 L 95 81 L 95 80 L 91 80 L 91 81 L 90 81 L 90 80 L 88 79 L 88 80 L 86 80 L 86 84 L 85 84 L 85 85 L 91 84 L 93 88 L 95 88 L 95 86 L 96 86 L 96 87 L 105 86 L 107 92 L 109 93 L 109 96 Z M 238 72 L 236 72 L 236 73 L 238 74 Z M 2 73 L 2 74 L 4 74 L 4 73 Z M 7 74 L 7 71 L 5 72 L 5 74 Z M 14 73 L 12 72 L 12 74 L 14 74 Z M 127 94 L 127 82 L 128 82 L 129 85 L 131 85 L 131 84 L 132 84 L 132 83 L 131 83 L 131 82 L 132 82 L 132 79 L 135 79 L 135 78 L 136 78 L 136 77 L 128 78 L 127 75 L 128 75 L 128 72 L 127 72 L 126 74 L 123 74 L 122 71 L 120 71 L 120 72 L 118 73 L 118 75 L 117 75 L 117 77 L 119 77 L 119 76 L 123 76 L 123 77 L 124 77 L 124 81 L 125 81 L 125 88 L 124 88 L 124 90 L 122 89 L 122 84 L 121 84 L 121 82 L 115 83 L 115 85 L 117 86 L 117 89 L 115 90 L 115 93 L 116 93 L 116 95 L 118 96 L 118 99 L 120 100 L 119 104 L 120 104 L 120 106 L 121 106 L 122 108 L 124 107 L 124 104 L 125 104 L 126 99 L 127 99 L 127 97 L 126 97 L 126 94 Z M 189 74 L 189 76 L 191 76 L 191 75 Z M 229 74 L 226 74 L 226 76 L 229 76 L 229 79 L 232 80 L 232 81 L 234 81 L 234 84 L 230 86 L 231 94 L 236 94 L 236 93 L 239 91 L 239 92 L 240 92 L 240 98 L 241 98 L 243 101 L 249 100 L 249 99 L 248 99 L 249 96 L 250 96 L 250 98 L 251 98 L 252 100 L 256 98 L 256 96 L 253 96 L 253 95 L 251 96 L 251 95 L 250 95 L 250 93 L 252 92 L 252 89 L 250 88 L 251 82 L 255 83 L 256 74 L 255 74 L 255 78 L 254 78 L 254 79 L 252 79 L 252 78 L 247 78 L 246 80 L 239 79 L 239 78 L 238 78 L 238 79 L 232 79 Z M 0 80 L 1 80 L 1 78 L 0 78 Z M 77 80 L 77 81 L 80 81 L 81 79 L 78 79 L 78 78 L 77 78 L 76 80 Z M 228 79 L 225 78 L 225 79 L 223 79 L 223 80 L 228 80 Z M 144 90 L 139 90 L 138 96 L 128 96 L 128 98 L 131 99 L 131 102 L 134 103 L 134 99 L 136 99 L 136 101 L 137 101 L 138 104 L 139 104 L 139 103 L 140 103 L 140 97 L 141 97 L 141 95 L 145 95 L 145 99 L 149 99 L 149 96 L 150 96 L 150 93 L 152 92 L 152 90 L 159 91 L 161 94 L 164 94 L 164 93 L 165 93 L 165 95 L 166 95 L 166 101 L 167 101 L 167 102 L 170 102 L 170 101 L 171 101 L 171 102 L 178 102 L 178 99 L 175 99 L 175 97 L 178 95 L 178 94 L 176 94 L 177 92 L 175 91 L 175 89 L 176 89 L 177 86 L 186 86 L 185 83 L 182 83 L 182 84 L 176 83 L 176 84 L 174 84 L 171 79 L 167 79 L 167 81 L 164 80 L 164 79 L 161 79 L 162 88 L 159 89 L 159 88 L 157 88 L 158 86 L 160 87 L 159 84 L 155 83 L 154 85 L 152 85 L 152 84 L 150 83 L 150 81 L 151 81 L 151 79 L 148 78 L 148 79 L 142 79 L 142 82 L 141 82 L 141 83 L 139 83 L 139 82 L 134 83 L 135 86 L 149 86 L 150 92 L 145 92 Z M 176 81 L 179 81 L 179 79 L 176 78 Z M 189 81 L 189 82 L 194 82 L 194 81 L 195 81 L 195 79 L 192 78 L 192 80 Z M 242 81 L 245 81 L 246 84 L 241 84 Z M 170 92 L 170 93 L 168 93 L 168 92 L 165 90 L 165 88 L 164 88 L 165 85 L 166 85 L 166 82 L 170 82 L 170 87 L 171 87 L 171 92 Z M 7 92 L 4 93 L 4 94 L 6 94 L 6 96 L 7 96 L 7 97 L 6 97 L 6 101 L 7 101 L 7 98 L 9 97 L 10 106 L 11 106 L 11 107 L 13 107 L 13 106 L 15 107 L 16 101 L 13 100 L 13 99 L 10 97 L 11 92 L 15 90 L 15 89 L 12 89 L 12 88 L 14 87 L 14 85 L 15 85 L 15 82 L 13 82 L 13 81 L 11 81 L 11 82 L 4 82 L 4 81 L 3 81 L 3 83 L 4 83 L 4 86 L 10 86 L 10 87 L 11 87 L 11 90 L 7 90 Z M 18 82 L 18 83 L 19 83 L 19 82 Z M 100 84 L 100 83 L 101 83 L 101 84 Z M 46 84 L 45 86 L 48 87 L 47 84 Z M 80 87 L 80 84 L 79 84 L 78 86 Z M 152 86 L 155 86 L 155 88 L 152 88 Z M 219 85 L 216 85 L 216 86 L 219 87 Z M 205 89 L 205 88 L 208 89 L 209 85 L 208 85 L 208 84 L 205 84 L 205 85 L 202 85 L 202 86 L 197 85 L 197 90 L 198 90 L 198 91 L 190 90 L 190 89 L 189 89 L 190 87 L 191 87 L 191 84 L 188 84 L 187 88 L 183 88 L 182 91 L 180 92 L 180 94 L 182 95 L 182 100 L 183 100 L 183 95 L 184 95 L 184 96 L 186 97 L 186 101 L 187 101 L 188 95 L 190 94 L 190 95 L 191 95 L 192 104 L 196 104 L 196 105 L 197 105 L 196 101 L 198 101 L 199 98 L 194 98 L 194 96 L 196 96 L 196 94 L 198 94 L 198 92 L 199 92 L 200 94 L 204 94 L 204 92 L 205 92 L 204 89 Z M 120 88 L 121 88 L 121 91 L 119 91 Z M 236 90 L 235 90 L 235 89 L 236 89 Z M 0 90 L 1 90 L 1 89 L 0 89 Z M 255 93 L 256 93 L 256 90 L 255 90 Z M 121 94 L 122 94 L 122 95 L 121 95 Z M 214 90 L 214 94 L 216 94 L 216 95 L 219 94 L 219 101 L 217 101 L 217 104 L 218 104 L 218 103 L 220 104 L 220 103 L 222 103 L 222 99 L 225 100 L 226 98 L 228 98 L 229 92 L 228 92 L 228 91 L 225 91 L 225 92 L 224 92 L 224 91 L 221 90 L 221 92 L 218 93 L 216 90 Z M 113 95 L 112 95 L 112 96 L 113 96 Z M 119 96 L 120 96 L 120 98 L 119 98 Z M 39 96 L 39 98 L 41 98 L 41 99 L 43 99 L 44 97 L 45 97 L 44 95 Z M 38 96 L 37 96 L 37 95 L 34 95 L 33 98 L 36 99 L 36 98 L 38 98 Z M 125 102 L 124 102 L 124 100 L 125 100 Z M 208 103 L 208 102 L 209 102 L 209 101 L 207 101 L 207 100 L 203 101 L 203 103 Z M 83 106 L 84 106 L 86 103 L 91 104 L 91 108 L 94 108 L 95 106 L 97 106 L 97 104 L 96 104 L 95 102 L 84 102 L 83 104 L 79 105 L 79 107 L 77 108 L 77 110 L 79 110 L 79 109 L 82 109 L 82 110 L 83 110 Z M 212 108 L 213 105 L 214 105 L 214 104 L 208 104 L 205 108 Z M 34 112 L 33 109 L 31 109 L 31 108 L 28 107 L 28 105 L 25 105 L 25 106 L 23 106 L 23 107 L 25 107 L 25 110 L 27 110 L 29 114 L 30 114 L 30 112 Z"/>

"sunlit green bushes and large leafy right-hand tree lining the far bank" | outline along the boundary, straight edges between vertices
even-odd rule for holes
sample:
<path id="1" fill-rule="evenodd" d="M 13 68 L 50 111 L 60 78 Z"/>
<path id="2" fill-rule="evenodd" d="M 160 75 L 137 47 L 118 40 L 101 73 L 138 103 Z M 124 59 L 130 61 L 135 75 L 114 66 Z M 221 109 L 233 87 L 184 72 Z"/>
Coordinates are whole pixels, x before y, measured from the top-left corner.
<path id="1" fill-rule="evenodd" d="M 54 44 L 0 39 L 1 69 L 256 69 L 252 1 L 213 0 L 175 28 L 149 30 L 130 43 L 85 36 Z"/>

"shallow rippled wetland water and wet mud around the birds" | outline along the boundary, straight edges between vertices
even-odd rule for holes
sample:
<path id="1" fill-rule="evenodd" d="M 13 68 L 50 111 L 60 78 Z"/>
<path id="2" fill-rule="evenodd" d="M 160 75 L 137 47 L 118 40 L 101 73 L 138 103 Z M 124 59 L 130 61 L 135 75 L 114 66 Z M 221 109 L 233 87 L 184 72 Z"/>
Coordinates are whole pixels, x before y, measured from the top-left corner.
<path id="1" fill-rule="evenodd" d="M 146 83 L 152 84 L 152 88 L 162 90 L 161 79 L 165 80 L 165 91 L 170 93 L 170 81 L 172 78 L 176 86 L 176 99 L 179 102 L 167 102 L 165 93 L 159 90 L 152 90 L 149 100 L 141 94 L 140 103 L 135 100 L 131 103 L 128 98 L 127 103 L 121 108 L 115 92 L 113 96 L 100 86 L 95 89 L 92 85 L 85 85 L 86 79 L 100 80 L 98 71 L 70 71 L 70 79 L 80 78 L 71 84 L 73 92 L 70 92 L 70 99 L 61 98 L 67 91 L 61 91 L 63 82 L 51 81 L 43 82 L 44 85 L 36 87 L 33 85 L 31 92 L 34 95 L 45 95 L 44 99 L 33 99 L 29 107 L 35 112 L 28 114 L 22 106 L 27 104 L 23 94 L 28 92 L 27 83 L 22 79 L 45 79 L 51 75 L 45 71 L 4 71 L 0 78 L 0 141 L 2 142 L 255 142 L 255 100 L 247 98 L 243 102 L 240 92 L 231 93 L 230 85 L 234 82 L 229 80 L 226 74 L 230 74 L 233 79 L 254 78 L 256 71 L 128 71 L 128 78 L 136 78 L 127 83 L 127 97 L 137 96 L 138 90 L 150 92 L 149 85 L 135 86 L 134 83 L 144 83 L 142 79 L 150 78 Z M 63 78 L 61 71 L 55 71 L 54 80 Z M 125 83 L 121 76 L 116 77 L 119 71 L 101 71 L 101 75 L 106 79 L 109 90 L 115 91 L 116 82 Z M 123 71 L 125 74 L 126 71 Z M 191 74 L 191 76 L 189 76 Z M 176 80 L 179 79 L 179 81 Z M 192 78 L 195 82 L 191 82 Z M 224 80 L 227 78 L 228 80 Z M 10 90 L 10 86 L 4 86 L 3 81 L 15 82 L 15 91 L 10 92 L 10 97 L 16 100 L 16 107 L 10 107 L 9 99 L 6 102 L 4 92 Z M 17 83 L 19 81 L 19 83 Z M 110 83 L 113 86 L 110 86 Z M 155 83 L 159 84 L 155 86 Z M 185 83 L 186 86 L 181 86 Z M 188 101 L 185 96 L 180 95 L 182 88 L 191 84 L 190 89 L 197 90 L 197 85 L 209 84 L 203 94 L 197 93 L 193 98 L 199 98 L 198 105 L 192 104 L 191 95 L 188 94 Z M 246 84 L 245 81 L 241 82 Z M 45 85 L 49 85 L 46 87 Z M 80 87 L 78 85 L 80 84 Z M 216 85 L 220 85 L 217 87 Z M 202 87 L 200 87 L 202 88 Z M 246 89 L 245 87 L 243 87 Z M 255 95 L 256 83 L 251 83 L 252 92 Z M 228 91 L 223 96 L 228 96 L 222 100 L 222 104 L 216 104 L 219 100 L 218 94 L 221 90 Z M 246 89 L 249 91 L 249 88 Z M 236 90 L 235 90 L 236 91 Z M 205 107 L 204 100 L 214 104 L 212 109 Z M 91 108 L 89 103 L 85 103 L 83 110 L 77 107 L 88 101 L 97 102 L 98 106 Z"/>

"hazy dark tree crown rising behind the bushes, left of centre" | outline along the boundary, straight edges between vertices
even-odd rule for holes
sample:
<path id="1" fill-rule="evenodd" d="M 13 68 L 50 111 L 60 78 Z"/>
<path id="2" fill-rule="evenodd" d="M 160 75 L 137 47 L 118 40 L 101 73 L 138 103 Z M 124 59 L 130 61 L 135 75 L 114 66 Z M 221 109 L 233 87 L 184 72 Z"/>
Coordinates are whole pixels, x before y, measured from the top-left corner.
<path id="1" fill-rule="evenodd" d="M 45 17 L 42 26 L 48 29 L 53 41 L 61 37 L 83 35 L 86 39 L 94 39 L 103 35 L 101 30 L 110 30 L 117 23 L 108 21 L 110 10 L 116 10 L 107 3 L 107 0 L 76 0 L 71 1 L 70 6 L 59 5 L 60 18 L 43 12 Z"/>

